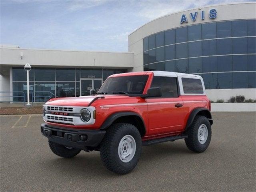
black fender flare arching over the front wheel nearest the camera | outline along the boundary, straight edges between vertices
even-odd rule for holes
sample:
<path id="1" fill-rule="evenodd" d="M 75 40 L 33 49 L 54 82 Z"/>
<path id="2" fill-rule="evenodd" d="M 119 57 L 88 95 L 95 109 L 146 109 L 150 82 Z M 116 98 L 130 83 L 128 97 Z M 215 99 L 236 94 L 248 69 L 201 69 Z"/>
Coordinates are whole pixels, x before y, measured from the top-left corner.
<path id="1" fill-rule="evenodd" d="M 114 114 L 111 114 L 102 124 L 102 126 L 100 127 L 100 130 L 106 130 L 115 120 L 117 120 L 120 117 L 124 117 L 124 116 L 137 116 L 138 118 L 140 118 L 140 120 L 143 123 L 143 132 L 146 133 L 146 126 L 145 126 L 145 122 L 143 120 L 143 118 L 135 113 L 135 112 L 116 112 Z"/>

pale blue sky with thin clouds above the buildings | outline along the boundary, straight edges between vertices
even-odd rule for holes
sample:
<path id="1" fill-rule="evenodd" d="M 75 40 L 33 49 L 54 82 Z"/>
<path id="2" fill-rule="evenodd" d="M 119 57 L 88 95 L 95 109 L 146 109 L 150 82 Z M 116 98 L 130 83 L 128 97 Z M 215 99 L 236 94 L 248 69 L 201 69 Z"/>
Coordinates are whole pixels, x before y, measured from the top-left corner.
<path id="1" fill-rule="evenodd" d="M 150 20 L 180 10 L 229 2 L 238 1 L 0 0 L 0 44 L 127 52 L 128 34 Z"/>

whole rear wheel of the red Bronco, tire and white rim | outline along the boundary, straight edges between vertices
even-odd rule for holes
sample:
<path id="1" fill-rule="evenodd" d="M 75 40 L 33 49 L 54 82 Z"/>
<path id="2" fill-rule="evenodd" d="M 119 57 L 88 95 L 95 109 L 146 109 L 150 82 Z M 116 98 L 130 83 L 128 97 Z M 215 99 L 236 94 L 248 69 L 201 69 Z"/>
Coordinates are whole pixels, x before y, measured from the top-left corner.
<path id="1" fill-rule="evenodd" d="M 188 149 L 194 152 L 205 151 L 211 141 L 211 124 L 205 116 L 196 116 L 192 125 L 186 131 L 188 138 L 185 139 Z"/>

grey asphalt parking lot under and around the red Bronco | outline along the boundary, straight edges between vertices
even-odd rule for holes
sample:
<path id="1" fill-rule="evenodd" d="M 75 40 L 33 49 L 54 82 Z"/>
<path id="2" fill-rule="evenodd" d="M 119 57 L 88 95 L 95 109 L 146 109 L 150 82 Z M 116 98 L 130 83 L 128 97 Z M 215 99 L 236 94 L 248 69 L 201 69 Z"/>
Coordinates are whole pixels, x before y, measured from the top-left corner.
<path id="1" fill-rule="evenodd" d="M 255 112 L 214 112 L 212 141 L 197 154 L 184 140 L 144 146 L 127 175 L 104 168 L 99 152 L 64 159 L 50 151 L 38 115 L 0 116 L 4 191 L 255 191 Z"/>

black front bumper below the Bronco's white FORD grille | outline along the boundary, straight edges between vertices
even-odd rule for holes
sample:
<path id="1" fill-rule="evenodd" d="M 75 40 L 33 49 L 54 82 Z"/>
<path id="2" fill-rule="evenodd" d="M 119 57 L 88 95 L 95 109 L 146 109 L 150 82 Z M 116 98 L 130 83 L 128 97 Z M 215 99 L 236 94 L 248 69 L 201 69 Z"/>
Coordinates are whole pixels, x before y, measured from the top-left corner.
<path id="1" fill-rule="evenodd" d="M 67 147 L 87 150 L 87 147 L 98 146 L 102 141 L 106 131 L 67 130 L 62 127 L 50 126 L 43 123 L 41 124 L 41 133 L 54 143 L 58 143 Z"/>

